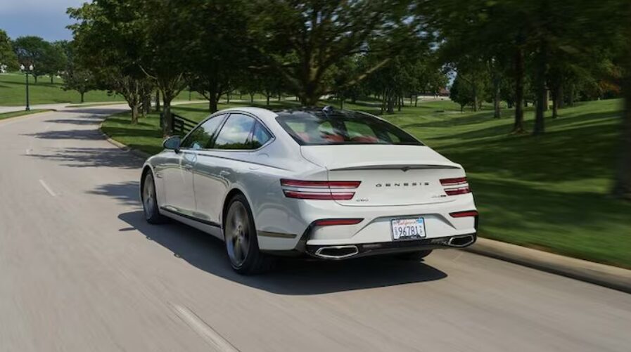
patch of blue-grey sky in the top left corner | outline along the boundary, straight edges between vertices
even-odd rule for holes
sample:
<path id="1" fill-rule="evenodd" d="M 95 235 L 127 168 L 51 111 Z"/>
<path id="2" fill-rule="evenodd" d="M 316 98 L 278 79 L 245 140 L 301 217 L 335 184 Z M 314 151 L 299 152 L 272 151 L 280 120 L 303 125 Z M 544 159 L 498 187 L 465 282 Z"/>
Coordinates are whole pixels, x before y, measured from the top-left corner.
<path id="1" fill-rule="evenodd" d="M 47 41 L 72 39 L 65 26 L 72 20 L 65 13 L 87 0 L 0 0 L 0 29 L 11 39 L 35 35 Z"/>

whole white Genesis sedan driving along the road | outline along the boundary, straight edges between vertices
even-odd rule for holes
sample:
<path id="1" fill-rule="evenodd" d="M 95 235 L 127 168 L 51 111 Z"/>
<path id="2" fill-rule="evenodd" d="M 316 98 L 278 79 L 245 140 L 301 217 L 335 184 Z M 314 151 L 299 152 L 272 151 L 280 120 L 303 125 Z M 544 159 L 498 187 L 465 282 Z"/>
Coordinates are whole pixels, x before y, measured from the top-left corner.
<path id="1" fill-rule="evenodd" d="M 238 273 L 274 256 L 419 260 L 476 241 L 464 169 L 364 112 L 232 108 L 164 147 L 142 171 L 146 220 L 219 237 Z"/>

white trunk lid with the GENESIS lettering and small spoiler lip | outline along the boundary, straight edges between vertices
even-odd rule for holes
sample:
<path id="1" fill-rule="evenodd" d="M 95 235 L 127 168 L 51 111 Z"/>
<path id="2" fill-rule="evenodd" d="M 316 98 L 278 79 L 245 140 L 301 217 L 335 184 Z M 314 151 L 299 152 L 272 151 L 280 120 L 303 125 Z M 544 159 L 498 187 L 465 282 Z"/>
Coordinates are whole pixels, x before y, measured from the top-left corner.
<path id="1" fill-rule="evenodd" d="M 459 164 L 424 145 L 310 145 L 305 159 L 325 167 L 329 181 L 361 181 L 351 207 L 447 202 L 441 178 L 464 177 Z"/>

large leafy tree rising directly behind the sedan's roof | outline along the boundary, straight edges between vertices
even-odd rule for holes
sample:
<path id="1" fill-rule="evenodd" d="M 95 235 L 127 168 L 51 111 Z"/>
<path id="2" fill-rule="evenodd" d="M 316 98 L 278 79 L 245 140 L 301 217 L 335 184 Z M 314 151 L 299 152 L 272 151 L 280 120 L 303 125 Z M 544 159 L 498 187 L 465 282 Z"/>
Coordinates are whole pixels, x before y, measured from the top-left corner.
<path id="1" fill-rule="evenodd" d="M 329 85 L 333 67 L 355 53 L 396 52 L 403 37 L 418 30 L 409 1 L 310 0 L 253 1 L 251 25 L 258 34 L 254 44 L 264 63 L 281 74 L 298 92 L 302 105 L 316 105 L 321 96 L 335 90 Z M 381 46 L 369 46 L 370 39 Z M 358 82 L 388 63 L 388 55 L 364 67 L 349 82 Z M 329 82 L 327 82 L 329 81 Z"/>

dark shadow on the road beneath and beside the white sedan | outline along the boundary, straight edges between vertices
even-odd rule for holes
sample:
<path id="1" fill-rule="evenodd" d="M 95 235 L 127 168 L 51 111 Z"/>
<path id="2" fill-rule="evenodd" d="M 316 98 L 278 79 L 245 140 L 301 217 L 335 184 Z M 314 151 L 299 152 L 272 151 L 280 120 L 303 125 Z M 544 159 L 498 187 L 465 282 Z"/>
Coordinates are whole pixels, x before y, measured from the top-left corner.
<path id="1" fill-rule="evenodd" d="M 142 211 L 118 216 L 129 224 L 121 231 L 136 229 L 147 240 L 158 243 L 174 256 L 212 275 L 275 294 L 312 295 L 388 287 L 446 278 L 447 274 L 421 261 L 386 257 L 348 261 L 279 259 L 271 273 L 238 275 L 229 265 L 224 245 L 212 235 L 171 221 L 160 226 L 146 223 Z"/>

